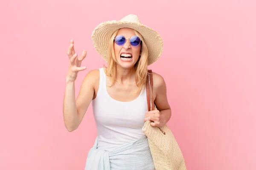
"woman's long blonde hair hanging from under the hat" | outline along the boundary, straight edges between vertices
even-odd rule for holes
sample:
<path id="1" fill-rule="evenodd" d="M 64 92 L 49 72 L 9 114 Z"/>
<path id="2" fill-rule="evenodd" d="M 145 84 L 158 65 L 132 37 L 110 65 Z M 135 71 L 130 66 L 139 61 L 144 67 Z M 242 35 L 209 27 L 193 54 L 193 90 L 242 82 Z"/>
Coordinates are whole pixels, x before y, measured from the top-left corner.
<path id="1" fill-rule="evenodd" d="M 104 71 L 108 77 L 111 78 L 112 83 L 111 86 L 115 83 L 115 78 L 116 78 L 116 57 L 115 57 L 115 51 L 114 51 L 114 45 L 113 45 L 113 40 L 117 35 L 118 30 L 116 30 L 108 44 L 108 67 L 104 65 Z M 141 91 L 141 89 L 144 87 L 146 84 L 146 78 L 147 78 L 147 73 L 148 73 L 148 48 L 145 45 L 145 41 L 142 37 L 142 35 L 134 30 L 135 34 L 140 37 L 141 40 L 141 50 L 140 50 L 140 57 L 136 64 L 134 65 L 135 67 L 135 81 L 136 85 L 139 87 L 138 91 Z M 110 87 L 111 87 L 110 86 Z M 137 93 L 136 91 L 135 93 Z"/>

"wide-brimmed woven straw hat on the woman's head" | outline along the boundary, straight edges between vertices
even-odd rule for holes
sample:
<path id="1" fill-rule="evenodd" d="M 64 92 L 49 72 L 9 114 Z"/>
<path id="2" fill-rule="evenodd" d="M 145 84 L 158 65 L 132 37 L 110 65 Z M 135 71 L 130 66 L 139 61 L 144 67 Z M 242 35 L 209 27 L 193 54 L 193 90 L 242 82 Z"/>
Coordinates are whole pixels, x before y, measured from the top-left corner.
<path id="1" fill-rule="evenodd" d="M 149 28 L 140 23 L 139 18 L 134 14 L 129 14 L 121 20 L 106 21 L 100 23 L 93 30 L 92 40 L 96 51 L 102 56 L 105 61 L 108 60 L 108 43 L 116 30 L 120 28 L 132 28 L 138 31 L 144 38 L 145 44 L 148 47 L 148 65 L 161 56 L 163 52 L 163 40 L 160 35 L 152 28 Z"/>

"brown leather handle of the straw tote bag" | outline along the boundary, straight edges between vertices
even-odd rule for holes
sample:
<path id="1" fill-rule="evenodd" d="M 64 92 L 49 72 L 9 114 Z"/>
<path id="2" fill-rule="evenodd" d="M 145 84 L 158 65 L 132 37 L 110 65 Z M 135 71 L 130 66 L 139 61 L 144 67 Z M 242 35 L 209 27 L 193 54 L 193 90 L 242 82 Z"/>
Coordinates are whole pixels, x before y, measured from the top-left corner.
<path id="1" fill-rule="evenodd" d="M 147 81 L 146 81 L 146 92 L 147 92 L 148 111 L 153 111 L 154 110 L 154 97 L 153 97 L 152 70 L 148 70 Z M 150 103 L 150 99 L 151 99 L 151 103 Z"/>

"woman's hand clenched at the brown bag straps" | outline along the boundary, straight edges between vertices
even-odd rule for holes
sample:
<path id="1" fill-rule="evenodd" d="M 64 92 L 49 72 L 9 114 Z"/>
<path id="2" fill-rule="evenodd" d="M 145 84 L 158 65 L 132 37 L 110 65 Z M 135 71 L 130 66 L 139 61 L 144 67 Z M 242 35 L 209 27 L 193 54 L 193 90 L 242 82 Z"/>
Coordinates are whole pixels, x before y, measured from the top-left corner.
<path id="1" fill-rule="evenodd" d="M 162 127 L 166 124 L 165 118 L 161 115 L 160 111 L 155 108 L 153 111 L 148 111 L 145 115 L 144 122 L 146 121 L 153 121 L 151 122 L 151 126 L 153 127 Z"/>

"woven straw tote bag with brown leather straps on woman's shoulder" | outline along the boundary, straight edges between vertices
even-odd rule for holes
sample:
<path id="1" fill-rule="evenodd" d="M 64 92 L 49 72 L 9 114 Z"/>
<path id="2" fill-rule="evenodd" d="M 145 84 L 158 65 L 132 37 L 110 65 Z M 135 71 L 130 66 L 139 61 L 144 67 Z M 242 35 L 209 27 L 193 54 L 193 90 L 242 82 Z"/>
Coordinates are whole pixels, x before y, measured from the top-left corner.
<path id="1" fill-rule="evenodd" d="M 154 110 L 155 107 L 152 87 L 152 71 L 148 70 L 146 82 L 148 111 Z M 145 122 L 142 130 L 143 133 L 148 137 L 148 144 L 154 161 L 155 169 L 186 170 L 183 154 L 169 127 L 167 125 L 164 125 L 163 127 L 152 127 L 150 123 L 151 121 Z"/>

